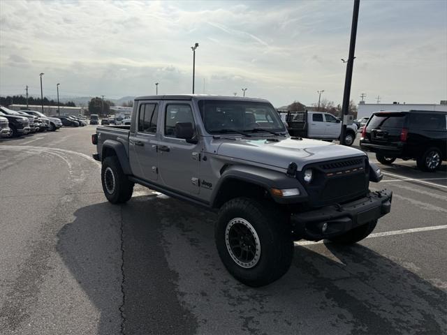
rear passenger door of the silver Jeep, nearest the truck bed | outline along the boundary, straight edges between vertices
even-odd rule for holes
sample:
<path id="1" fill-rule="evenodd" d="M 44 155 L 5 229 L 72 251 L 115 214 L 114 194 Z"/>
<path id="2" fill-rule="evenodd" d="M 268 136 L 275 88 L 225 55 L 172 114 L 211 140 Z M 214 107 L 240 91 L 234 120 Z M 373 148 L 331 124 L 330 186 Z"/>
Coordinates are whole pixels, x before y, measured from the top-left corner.
<path id="1" fill-rule="evenodd" d="M 135 129 L 129 135 L 129 159 L 135 177 L 156 180 L 159 175 L 157 155 L 159 101 L 142 101 L 138 105 Z"/>

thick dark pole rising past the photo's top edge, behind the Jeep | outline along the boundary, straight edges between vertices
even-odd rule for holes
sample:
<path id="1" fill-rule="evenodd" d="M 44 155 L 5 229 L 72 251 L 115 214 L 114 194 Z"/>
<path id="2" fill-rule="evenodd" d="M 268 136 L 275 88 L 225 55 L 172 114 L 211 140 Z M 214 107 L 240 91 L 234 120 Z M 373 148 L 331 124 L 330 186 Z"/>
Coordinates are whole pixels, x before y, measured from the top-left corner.
<path id="1" fill-rule="evenodd" d="M 360 0 L 354 0 L 354 8 L 352 14 L 351 25 L 351 41 L 349 43 L 349 58 L 346 66 L 346 77 L 344 80 L 343 93 L 343 107 L 342 114 L 349 114 L 349 96 L 351 95 L 352 70 L 354 66 L 354 53 L 356 51 L 356 37 L 357 37 L 357 23 L 358 23 L 358 9 L 360 7 Z M 346 118 L 347 119 L 347 118 Z M 344 136 L 346 134 L 345 117 L 342 119 L 342 133 L 340 134 L 340 144 L 344 144 Z"/>

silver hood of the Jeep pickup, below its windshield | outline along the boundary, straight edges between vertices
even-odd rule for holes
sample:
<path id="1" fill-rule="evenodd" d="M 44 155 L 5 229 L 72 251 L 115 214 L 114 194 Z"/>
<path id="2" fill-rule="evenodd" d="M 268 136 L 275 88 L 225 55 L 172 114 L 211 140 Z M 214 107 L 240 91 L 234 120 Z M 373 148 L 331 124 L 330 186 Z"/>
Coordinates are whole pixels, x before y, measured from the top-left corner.
<path id="1" fill-rule="evenodd" d="M 302 170 L 304 165 L 321 161 L 333 161 L 335 159 L 365 156 L 363 151 L 319 140 L 292 140 L 291 137 L 279 139 L 279 142 L 266 140 L 265 137 L 246 139 L 237 137 L 236 140 L 215 140 L 221 142 L 217 149 L 219 156 L 238 158 L 277 168 L 287 169 L 291 162 Z"/>

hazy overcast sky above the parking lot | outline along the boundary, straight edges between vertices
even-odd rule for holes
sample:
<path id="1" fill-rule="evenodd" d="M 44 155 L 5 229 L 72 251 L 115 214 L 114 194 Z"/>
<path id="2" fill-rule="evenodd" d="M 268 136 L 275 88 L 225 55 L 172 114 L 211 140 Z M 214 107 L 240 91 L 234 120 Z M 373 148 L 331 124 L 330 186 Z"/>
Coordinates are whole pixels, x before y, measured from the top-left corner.
<path id="1" fill-rule="evenodd" d="M 341 103 L 353 1 L 0 1 L 0 94 Z M 205 90 L 203 80 L 205 79 Z M 447 100 L 447 1 L 360 1 L 351 98 Z"/>

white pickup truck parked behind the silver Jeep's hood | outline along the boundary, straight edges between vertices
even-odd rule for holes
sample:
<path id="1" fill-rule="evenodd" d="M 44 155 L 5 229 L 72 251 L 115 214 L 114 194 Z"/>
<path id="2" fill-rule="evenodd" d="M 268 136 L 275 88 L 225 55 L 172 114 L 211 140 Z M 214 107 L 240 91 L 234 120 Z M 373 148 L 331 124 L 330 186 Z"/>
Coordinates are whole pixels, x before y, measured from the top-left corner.
<path id="1" fill-rule="evenodd" d="M 292 136 L 316 138 L 318 140 L 339 140 L 342 132 L 341 121 L 325 112 L 288 112 L 287 130 Z M 344 142 L 351 146 L 356 140 L 356 124 L 347 126 Z"/>

